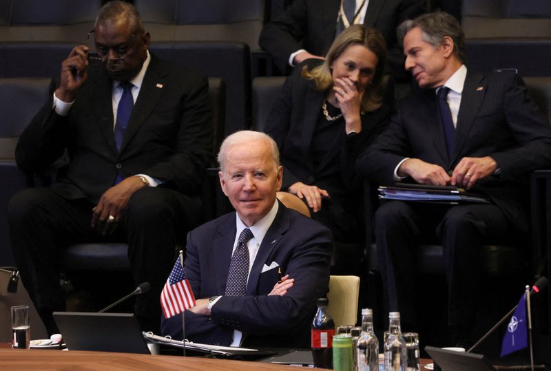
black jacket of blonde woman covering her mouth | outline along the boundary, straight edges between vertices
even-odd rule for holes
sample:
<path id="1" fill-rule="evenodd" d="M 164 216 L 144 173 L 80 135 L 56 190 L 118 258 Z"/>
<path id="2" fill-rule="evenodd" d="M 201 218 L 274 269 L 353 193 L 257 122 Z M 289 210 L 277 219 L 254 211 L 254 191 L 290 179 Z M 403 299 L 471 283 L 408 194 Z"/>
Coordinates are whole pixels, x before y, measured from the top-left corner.
<path id="1" fill-rule="evenodd" d="M 309 67 L 319 65 L 319 62 L 309 63 Z M 283 184 L 285 190 L 295 182 L 315 184 L 334 194 L 337 202 L 354 200 L 352 191 L 360 189 L 361 182 L 357 179 L 355 163 L 360 153 L 380 134 L 388 123 L 390 109 L 382 106 L 374 112 L 362 115 L 362 131 L 349 138 L 344 129 L 340 138 L 327 143 L 327 154 L 319 161 L 316 168 L 311 152 L 311 143 L 321 114 L 325 92 L 315 89 L 313 81 L 302 76 L 302 65 L 289 76 L 278 100 L 267 120 L 265 131 L 280 149 L 280 161 L 283 166 Z M 337 162 L 331 162 L 338 156 Z M 344 205 L 342 205 L 344 206 Z"/>

